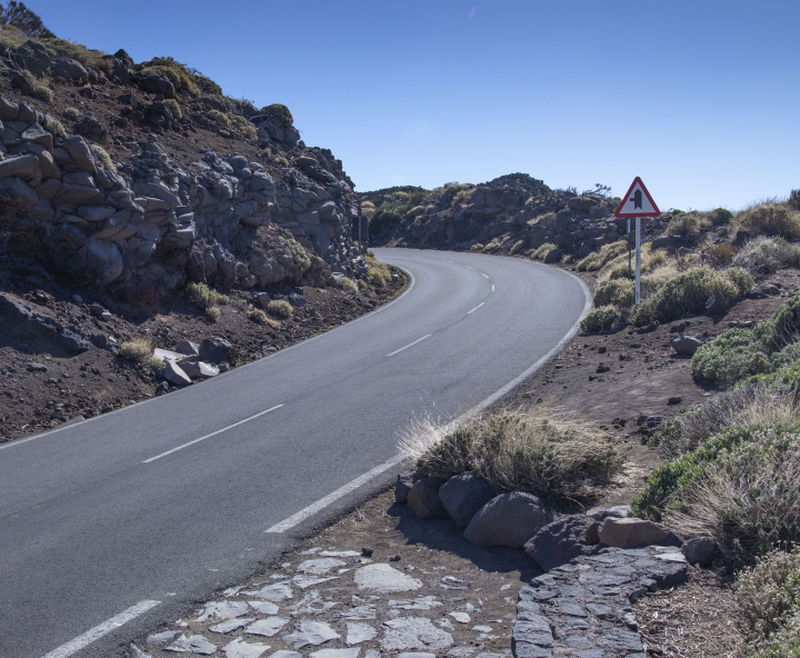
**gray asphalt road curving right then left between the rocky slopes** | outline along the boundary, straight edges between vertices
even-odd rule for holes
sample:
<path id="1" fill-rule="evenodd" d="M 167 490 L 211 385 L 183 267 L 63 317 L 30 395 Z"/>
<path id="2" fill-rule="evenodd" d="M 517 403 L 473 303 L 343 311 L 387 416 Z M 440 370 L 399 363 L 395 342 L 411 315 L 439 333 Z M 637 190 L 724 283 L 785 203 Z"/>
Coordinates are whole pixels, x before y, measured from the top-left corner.
<path id="1" fill-rule="evenodd" d="M 497 398 L 588 308 L 576 277 L 530 261 L 376 251 L 412 275 L 394 302 L 0 447 L 1 658 L 123 655 L 383 486 L 399 429 Z"/>

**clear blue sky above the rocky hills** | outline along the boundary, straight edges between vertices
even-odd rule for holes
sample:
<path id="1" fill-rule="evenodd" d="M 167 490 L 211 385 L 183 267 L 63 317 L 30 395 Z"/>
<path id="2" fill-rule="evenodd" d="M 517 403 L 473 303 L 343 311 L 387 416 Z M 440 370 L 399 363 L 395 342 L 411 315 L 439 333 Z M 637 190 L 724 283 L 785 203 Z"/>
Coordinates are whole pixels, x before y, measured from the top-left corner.
<path id="1" fill-rule="evenodd" d="M 356 189 L 516 171 L 667 208 L 800 188 L 800 2 L 30 0 L 58 36 L 286 103 Z"/>

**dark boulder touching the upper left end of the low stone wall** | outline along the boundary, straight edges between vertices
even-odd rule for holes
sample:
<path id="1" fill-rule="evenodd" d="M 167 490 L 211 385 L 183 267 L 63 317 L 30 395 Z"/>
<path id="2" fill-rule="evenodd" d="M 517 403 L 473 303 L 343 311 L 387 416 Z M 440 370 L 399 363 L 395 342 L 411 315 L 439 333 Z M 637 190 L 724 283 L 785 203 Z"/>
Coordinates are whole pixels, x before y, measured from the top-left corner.
<path id="1" fill-rule="evenodd" d="M 586 515 L 553 521 L 528 540 L 524 550 L 544 571 L 549 571 L 578 556 L 594 555 L 599 545 L 599 525 Z"/>

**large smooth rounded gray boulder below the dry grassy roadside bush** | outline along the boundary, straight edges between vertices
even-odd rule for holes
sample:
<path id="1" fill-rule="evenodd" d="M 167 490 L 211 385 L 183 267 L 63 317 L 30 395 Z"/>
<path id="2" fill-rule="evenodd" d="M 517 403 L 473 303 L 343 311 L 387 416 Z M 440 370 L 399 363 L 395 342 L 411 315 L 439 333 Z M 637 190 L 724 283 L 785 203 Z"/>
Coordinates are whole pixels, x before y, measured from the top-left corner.
<path id="1" fill-rule="evenodd" d="M 547 521 L 547 510 L 539 498 L 512 491 L 487 502 L 472 517 L 463 538 L 476 546 L 522 548 Z"/>

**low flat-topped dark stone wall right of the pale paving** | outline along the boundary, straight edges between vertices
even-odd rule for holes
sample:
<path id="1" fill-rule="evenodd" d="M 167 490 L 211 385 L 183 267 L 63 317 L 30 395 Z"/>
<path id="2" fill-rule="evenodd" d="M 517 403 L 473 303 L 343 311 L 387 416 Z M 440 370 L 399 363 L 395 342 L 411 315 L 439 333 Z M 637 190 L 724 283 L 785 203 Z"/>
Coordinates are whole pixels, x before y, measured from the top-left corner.
<path id="1" fill-rule="evenodd" d="M 517 658 L 646 658 L 631 604 L 683 582 L 676 548 L 607 548 L 537 576 L 517 604 Z"/>

